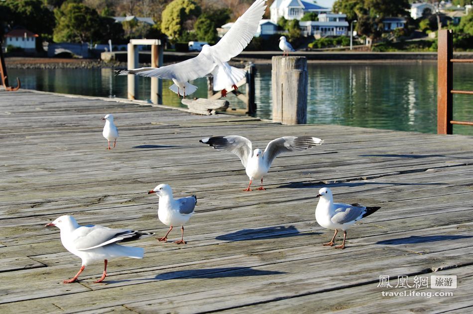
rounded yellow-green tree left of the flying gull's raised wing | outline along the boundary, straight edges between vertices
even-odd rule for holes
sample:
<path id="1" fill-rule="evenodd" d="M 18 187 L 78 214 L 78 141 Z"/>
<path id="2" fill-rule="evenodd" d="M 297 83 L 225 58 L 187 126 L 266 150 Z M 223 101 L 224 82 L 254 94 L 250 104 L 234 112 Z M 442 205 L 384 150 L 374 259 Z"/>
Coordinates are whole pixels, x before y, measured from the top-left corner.
<path id="1" fill-rule="evenodd" d="M 162 12 L 161 31 L 175 40 L 183 33 L 183 24 L 200 13 L 201 7 L 195 1 L 174 0 Z"/>

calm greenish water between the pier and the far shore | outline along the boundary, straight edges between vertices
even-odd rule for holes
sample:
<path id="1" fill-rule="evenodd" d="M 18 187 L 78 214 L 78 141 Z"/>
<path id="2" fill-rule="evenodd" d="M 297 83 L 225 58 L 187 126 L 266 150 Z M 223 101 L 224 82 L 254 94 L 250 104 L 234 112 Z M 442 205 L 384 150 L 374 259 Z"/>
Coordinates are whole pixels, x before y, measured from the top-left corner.
<path id="1" fill-rule="evenodd" d="M 257 116 L 271 119 L 271 67 L 257 66 Z M 473 89 L 473 65 L 455 64 L 454 88 Z M 8 70 L 25 88 L 60 93 L 126 97 L 126 77 L 112 69 Z M 138 99 L 148 99 L 150 81 L 138 77 Z M 193 96 L 207 96 L 206 79 L 192 82 Z M 163 81 L 163 104 L 183 106 Z M 245 105 L 233 95 L 231 106 Z M 437 64 L 310 64 L 308 123 L 436 133 Z M 473 120 L 473 97 L 454 95 L 454 119 Z M 454 126 L 454 133 L 473 135 L 473 127 Z"/>

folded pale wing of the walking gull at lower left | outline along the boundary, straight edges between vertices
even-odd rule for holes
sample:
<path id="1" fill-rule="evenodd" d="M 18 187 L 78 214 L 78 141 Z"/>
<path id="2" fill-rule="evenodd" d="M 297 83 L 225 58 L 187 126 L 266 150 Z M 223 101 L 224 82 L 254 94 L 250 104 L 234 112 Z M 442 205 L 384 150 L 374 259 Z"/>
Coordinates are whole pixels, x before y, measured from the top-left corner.
<path id="1" fill-rule="evenodd" d="M 88 250 L 134 237 L 136 232 L 103 226 L 82 226 L 74 230 L 71 236 L 76 249 Z"/>

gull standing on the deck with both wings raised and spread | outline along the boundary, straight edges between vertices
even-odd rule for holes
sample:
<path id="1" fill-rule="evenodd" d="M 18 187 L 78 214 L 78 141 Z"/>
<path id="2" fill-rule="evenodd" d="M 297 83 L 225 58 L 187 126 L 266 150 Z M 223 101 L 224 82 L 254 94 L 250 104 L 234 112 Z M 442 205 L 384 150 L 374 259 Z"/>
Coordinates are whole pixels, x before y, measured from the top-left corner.
<path id="1" fill-rule="evenodd" d="M 268 172 L 271 162 L 279 154 L 285 152 L 300 152 L 313 146 L 324 143 L 323 140 L 309 136 L 284 136 L 272 140 L 266 146 L 264 153 L 260 149 L 252 151 L 251 141 L 237 135 L 213 136 L 202 139 L 200 143 L 207 144 L 219 151 L 226 151 L 235 154 L 245 167 L 249 177 L 248 187 L 243 191 L 251 191 L 249 188 L 253 180 L 261 179 L 261 186 L 258 190 L 265 190 L 263 187 L 263 176 Z"/>

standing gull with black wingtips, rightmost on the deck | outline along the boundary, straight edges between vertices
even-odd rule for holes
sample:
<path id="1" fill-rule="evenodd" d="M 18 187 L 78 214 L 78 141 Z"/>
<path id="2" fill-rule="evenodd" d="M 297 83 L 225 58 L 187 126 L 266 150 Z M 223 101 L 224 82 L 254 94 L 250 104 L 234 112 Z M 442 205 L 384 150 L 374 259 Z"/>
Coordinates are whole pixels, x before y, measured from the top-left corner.
<path id="1" fill-rule="evenodd" d="M 319 198 L 319 203 L 315 209 L 315 219 L 317 223 L 326 228 L 335 230 L 335 235 L 325 246 L 334 245 L 335 236 L 339 229 L 343 230 L 342 245 L 335 246 L 335 248 L 345 248 L 345 239 L 347 238 L 347 229 L 355 224 L 361 218 L 371 215 L 381 207 L 365 207 L 360 204 L 342 204 L 334 203 L 332 191 L 327 188 L 321 188 L 316 198 Z"/>

